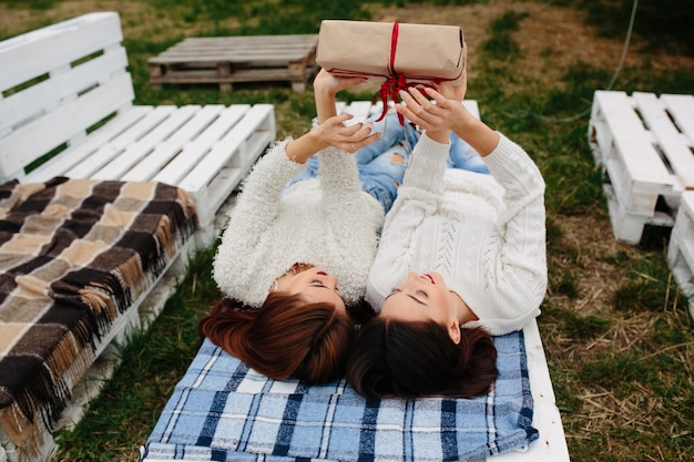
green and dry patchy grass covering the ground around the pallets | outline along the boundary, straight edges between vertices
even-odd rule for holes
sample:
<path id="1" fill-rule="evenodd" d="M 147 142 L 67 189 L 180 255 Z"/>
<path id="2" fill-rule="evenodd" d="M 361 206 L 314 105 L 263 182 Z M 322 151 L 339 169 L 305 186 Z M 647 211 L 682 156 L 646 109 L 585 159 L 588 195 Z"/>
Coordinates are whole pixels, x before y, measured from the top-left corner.
<path id="1" fill-rule="evenodd" d="M 632 4 L 622 0 L 537 1 L 576 8 L 590 23 L 600 25 L 601 35 L 616 41 L 623 40 Z M 126 3 L 122 21 L 136 104 L 271 102 L 279 138 L 308 129 L 315 112 L 310 90 L 295 93 L 282 84 L 238 85 L 228 93 L 214 86 L 154 89 L 149 84 L 146 59 L 191 34 L 313 33 L 320 19 L 370 19 L 376 11 L 372 4 L 337 0 L 310 8 L 298 0 Z M 382 3 L 437 8 L 499 2 Z M 673 52 L 684 52 L 686 43 L 694 43 L 685 40 L 691 35 L 673 38 L 673 32 L 691 33 L 677 30 L 678 22 L 661 25 L 670 12 L 680 12 L 691 23 L 694 9 L 684 3 L 663 0 L 655 8 L 641 2 L 643 14 L 637 16 L 635 28 L 640 50 L 670 43 Z M 11 7 L 10 11 L 29 8 L 28 2 L 17 0 L 2 4 Z M 31 4 L 37 8 L 31 10 L 28 29 L 54 21 L 44 14 L 62 2 Z M 694 322 L 666 265 L 669 233 L 649 227 L 639 246 L 613 243 L 602 174 L 586 140 L 593 92 L 606 85 L 614 68 L 574 62 L 549 85 L 528 78 L 519 68 L 524 57 L 518 31 L 534 13 L 521 10 L 501 11 L 488 24 L 480 47 L 470 50 L 478 63 L 468 97 L 479 102 L 490 126 L 523 145 L 545 178 L 550 284 L 539 324 L 571 459 L 692 461 Z M 540 55 L 550 66 L 551 47 L 548 43 Z M 623 69 L 615 89 L 694 93 L 694 72 L 686 65 L 663 69 L 645 60 Z M 370 99 L 371 94 L 353 97 Z M 220 296 L 210 275 L 213 253 L 203 251 L 192 261 L 176 296 L 150 330 L 121 349 L 122 366 L 101 397 L 74 431 L 59 434 L 58 460 L 139 459 L 139 446 L 197 350 L 195 325 Z"/>

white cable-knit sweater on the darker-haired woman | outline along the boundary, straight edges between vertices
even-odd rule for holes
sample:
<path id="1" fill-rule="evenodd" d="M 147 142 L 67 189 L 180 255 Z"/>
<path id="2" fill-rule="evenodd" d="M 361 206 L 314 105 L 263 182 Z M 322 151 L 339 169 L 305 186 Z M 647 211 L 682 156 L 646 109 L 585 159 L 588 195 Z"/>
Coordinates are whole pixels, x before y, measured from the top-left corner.
<path id="1" fill-rule="evenodd" d="M 379 311 L 409 271 L 437 271 L 492 335 L 540 314 L 547 288 L 544 181 L 501 135 L 484 157 L 492 176 L 446 170 L 448 146 L 426 134 L 386 217 L 366 299 Z"/>

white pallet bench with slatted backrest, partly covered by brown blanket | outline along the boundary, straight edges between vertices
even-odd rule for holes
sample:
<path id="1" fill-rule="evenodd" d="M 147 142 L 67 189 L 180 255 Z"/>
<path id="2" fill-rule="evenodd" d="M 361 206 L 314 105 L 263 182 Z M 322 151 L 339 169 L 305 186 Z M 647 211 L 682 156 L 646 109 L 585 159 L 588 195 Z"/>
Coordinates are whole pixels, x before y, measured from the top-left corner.
<path id="1" fill-rule="evenodd" d="M 78 421 L 99 392 L 114 367 L 112 343 L 159 315 L 188 256 L 220 233 L 220 208 L 276 136 L 271 104 L 134 105 L 122 41 L 119 14 L 99 12 L 0 42 L 0 182 L 157 181 L 188 192 L 198 219 L 195 238 L 102 339 L 54 430 Z M 53 449 L 45 434 L 39 455 L 22 454 L 0 429 L 0 462 L 47 460 Z"/>

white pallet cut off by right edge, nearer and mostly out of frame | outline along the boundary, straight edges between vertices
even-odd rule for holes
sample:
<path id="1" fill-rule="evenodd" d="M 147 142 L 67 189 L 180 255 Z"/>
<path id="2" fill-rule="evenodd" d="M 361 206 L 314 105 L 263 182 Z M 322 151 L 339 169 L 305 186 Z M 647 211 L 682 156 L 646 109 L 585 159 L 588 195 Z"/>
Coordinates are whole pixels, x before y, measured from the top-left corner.
<path id="1" fill-rule="evenodd" d="M 694 191 L 682 194 L 667 245 L 667 263 L 675 281 L 690 298 L 690 314 L 694 318 Z"/>

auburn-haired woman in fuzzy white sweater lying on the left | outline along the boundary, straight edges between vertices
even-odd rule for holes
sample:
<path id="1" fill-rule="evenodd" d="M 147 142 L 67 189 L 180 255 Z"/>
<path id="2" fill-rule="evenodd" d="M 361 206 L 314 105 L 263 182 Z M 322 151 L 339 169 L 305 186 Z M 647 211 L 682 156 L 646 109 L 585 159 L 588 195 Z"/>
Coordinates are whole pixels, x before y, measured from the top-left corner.
<path id="1" fill-rule="evenodd" d="M 379 134 L 346 125 L 351 116 L 335 106 L 338 91 L 363 82 L 316 76 L 317 125 L 258 161 L 213 263 L 226 297 L 200 332 L 273 379 L 318 383 L 344 373 L 350 311 L 363 300 L 385 215 L 363 191 L 353 155 Z M 314 154 L 320 175 L 286 187 Z"/>

